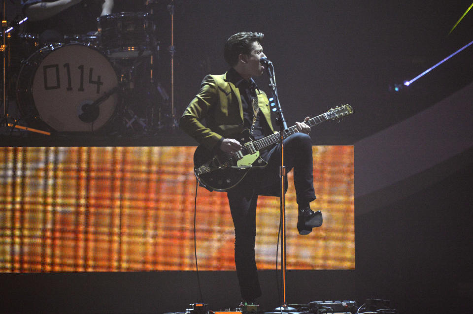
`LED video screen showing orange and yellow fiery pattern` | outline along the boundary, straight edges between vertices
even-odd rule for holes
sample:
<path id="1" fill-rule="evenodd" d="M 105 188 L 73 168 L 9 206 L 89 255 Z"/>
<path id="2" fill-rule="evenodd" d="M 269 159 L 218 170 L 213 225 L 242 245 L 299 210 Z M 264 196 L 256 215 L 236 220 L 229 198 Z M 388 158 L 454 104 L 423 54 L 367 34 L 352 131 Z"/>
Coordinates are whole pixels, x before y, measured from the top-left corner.
<path id="1" fill-rule="evenodd" d="M 195 270 L 195 149 L 0 148 L 0 272 Z M 313 157 L 324 223 L 298 234 L 291 171 L 287 269 L 354 269 L 353 146 L 313 146 Z M 279 216 L 279 198 L 260 196 L 260 270 L 275 268 Z M 225 192 L 197 189 L 196 226 L 199 270 L 234 270 Z"/>

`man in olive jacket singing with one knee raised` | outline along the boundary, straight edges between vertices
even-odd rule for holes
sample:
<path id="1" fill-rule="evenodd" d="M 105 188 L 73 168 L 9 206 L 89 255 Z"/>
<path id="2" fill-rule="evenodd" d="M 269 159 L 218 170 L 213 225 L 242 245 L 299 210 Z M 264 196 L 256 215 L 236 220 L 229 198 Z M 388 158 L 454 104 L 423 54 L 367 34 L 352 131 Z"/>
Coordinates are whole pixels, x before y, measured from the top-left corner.
<path id="1" fill-rule="evenodd" d="M 251 139 L 274 133 L 268 97 L 252 77 L 261 76 L 266 57 L 260 32 L 239 32 L 228 38 L 225 61 L 231 68 L 223 75 L 207 75 L 201 90 L 189 103 L 179 126 L 200 144 L 213 152 L 232 154 L 240 150 L 238 138 L 251 129 Z M 204 126 L 202 120 L 205 119 Z M 304 121 L 307 121 L 306 117 Z M 299 207 L 297 229 L 308 234 L 322 225 L 320 211 L 313 212 L 309 203 L 315 199 L 312 176 L 312 142 L 310 127 L 296 123 L 299 132 L 284 140 L 284 165 L 294 168 L 294 186 Z M 279 196 L 280 145 L 260 151 L 266 167 L 250 169 L 243 180 L 227 191 L 235 226 L 235 265 L 244 302 L 254 303 L 261 296 L 255 260 L 256 204 L 258 195 Z M 287 184 L 286 184 L 287 187 Z"/>

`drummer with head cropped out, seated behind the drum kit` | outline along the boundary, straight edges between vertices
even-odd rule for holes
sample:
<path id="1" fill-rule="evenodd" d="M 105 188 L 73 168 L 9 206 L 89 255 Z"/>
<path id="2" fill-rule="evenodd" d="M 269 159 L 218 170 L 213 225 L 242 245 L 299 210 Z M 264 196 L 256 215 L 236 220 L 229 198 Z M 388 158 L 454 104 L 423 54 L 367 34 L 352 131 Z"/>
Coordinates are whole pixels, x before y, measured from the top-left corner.
<path id="1" fill-rule="evenodd" d="M 64 35 L 97 31 L 97 17 L 112 13 L 113 0 L 22 0 L 28 32 L 39 33 L 39 44 L 63 42 Z"/>

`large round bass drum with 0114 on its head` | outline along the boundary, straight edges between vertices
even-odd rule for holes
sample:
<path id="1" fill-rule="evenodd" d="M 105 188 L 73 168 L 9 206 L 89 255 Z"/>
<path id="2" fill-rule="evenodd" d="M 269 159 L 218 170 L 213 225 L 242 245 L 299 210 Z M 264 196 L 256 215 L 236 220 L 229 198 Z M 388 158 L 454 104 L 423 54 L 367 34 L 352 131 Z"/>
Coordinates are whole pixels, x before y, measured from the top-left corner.
<path id="1" fill-rule="evenodd" d="M 117 90 L 117 74 L 101 52 L 82 44 L 52 44 L 24 62 L 17 102 L 24 117 L 39 118 L 57 131 L 93 132 L 114 114 Z"/>

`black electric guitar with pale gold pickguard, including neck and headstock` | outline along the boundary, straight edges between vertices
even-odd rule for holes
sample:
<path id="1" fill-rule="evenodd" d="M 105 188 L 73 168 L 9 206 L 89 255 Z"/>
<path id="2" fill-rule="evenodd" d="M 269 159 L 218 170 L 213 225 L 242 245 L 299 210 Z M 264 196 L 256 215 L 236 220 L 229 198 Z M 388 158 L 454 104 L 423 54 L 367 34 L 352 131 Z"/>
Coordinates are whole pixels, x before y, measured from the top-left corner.
<path id="1" fill-rule="evenodd" d="M 327 120 L 337 120 L 353 113 L 350 105 L 332 108 L 324 114 L 304 122 L 312 127 Z M 296 126 L 291 126 L 283 132 L 283 138 L 297 132 Z M 260 150 L 279 143 L 280 133 L 274 133 L 256 141 L 252 141 L 249 130 L 243 130 L 236 139 L 244 143 L 241 149 L 233 154 L 219 153 L 215 155 L 203 145 L 197 147 L 194 153 L 194 173 L 199 184 L 210 191 L 225 191 L 235 187 L 246 175 L 249 169 L 265 167 L 267 162 L 260 157 Z"/>

